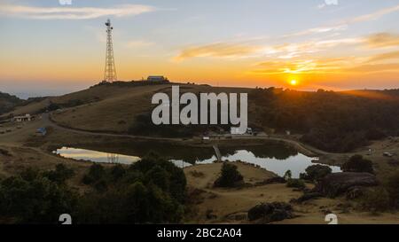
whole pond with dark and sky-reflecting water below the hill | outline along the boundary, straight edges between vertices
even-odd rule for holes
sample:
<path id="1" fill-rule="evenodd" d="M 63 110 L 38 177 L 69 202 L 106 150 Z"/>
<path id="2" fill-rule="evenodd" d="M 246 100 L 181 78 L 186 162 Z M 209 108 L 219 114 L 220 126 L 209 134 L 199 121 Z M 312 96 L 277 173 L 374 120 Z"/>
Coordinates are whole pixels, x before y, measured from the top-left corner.
<path id="1" fill-rule="evenodd" d="M 62 147 L 54 151 L 62 157 L 74 160 L 88 160 L 99 163 L 133 164 L 148 152 L 156 152 L 180 168 L 195 164 L 212 163 L 216 159 L 212 147 L 182 147 L 168 144 L 120 144 L 115 149 L 106 148 Z M 222 160 L 255 164 L 270 170 L 278 176 L 284 176 L 291 170 L 293 178 L 298 178 L 305 169 L 317 164 L 317 158 L 308 157 L 284 144 L 264 144 L 246 147 L 220 148 Z M 340 172 L 340 167 L 329 166 L 332 172 Z"/>

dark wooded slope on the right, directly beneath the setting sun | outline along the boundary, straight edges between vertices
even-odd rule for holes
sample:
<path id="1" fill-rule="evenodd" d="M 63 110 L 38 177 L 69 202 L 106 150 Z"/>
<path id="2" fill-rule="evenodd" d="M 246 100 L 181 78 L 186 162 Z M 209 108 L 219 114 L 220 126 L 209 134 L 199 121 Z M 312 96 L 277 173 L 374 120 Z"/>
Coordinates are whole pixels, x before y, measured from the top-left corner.
<path id="1" fill-rule="evenodd" d="M 301 141 L 325 151 L 348 152 L 399 135 L 399 90 L 256 89 L 249 104 L 262 127 L 304 134 Z"/>

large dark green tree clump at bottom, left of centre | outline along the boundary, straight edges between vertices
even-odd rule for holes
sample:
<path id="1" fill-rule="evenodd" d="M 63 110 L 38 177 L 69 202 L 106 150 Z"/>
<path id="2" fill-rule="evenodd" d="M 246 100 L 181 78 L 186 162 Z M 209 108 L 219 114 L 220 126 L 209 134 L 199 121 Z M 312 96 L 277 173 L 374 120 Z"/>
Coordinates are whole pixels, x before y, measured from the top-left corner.
<path id="1" fill-rule="evenodd" d="M 96 175 L 101 176 L 93 180 Z M 94 189 L 82 198 L 80 223 L 176 223 L 183 218 L 184 172 L 157 154 L 129 168 L 91 167 L 85 177 Z"/>

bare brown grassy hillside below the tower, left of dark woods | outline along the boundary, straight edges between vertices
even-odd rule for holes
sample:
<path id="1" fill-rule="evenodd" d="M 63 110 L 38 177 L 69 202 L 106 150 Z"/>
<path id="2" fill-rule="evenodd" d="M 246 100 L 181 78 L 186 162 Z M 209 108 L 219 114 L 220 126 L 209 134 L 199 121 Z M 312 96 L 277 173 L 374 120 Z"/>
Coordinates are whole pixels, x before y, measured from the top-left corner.
<path id="1" fill-rule="evenodd" d="M 151 113 L 151 98 L 157 92 L 170 92 L 172 83 L 137 85 L 113 83 L 96 85 L 87 90 L 60 97 L 46 98 L 40 102 L 17 108 L 12 113 L 41 113 L 46 109 L 58 110 L 52 119 L 74 129 L 127 133 L 137 121 L 137 116 Z M 207 85 L 181 84 L 180 91 L 248 92 L 246 89 L 214 88 Z"/>

